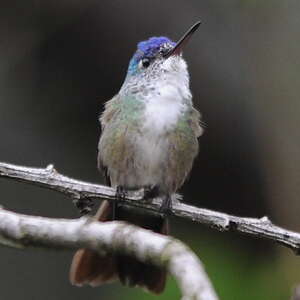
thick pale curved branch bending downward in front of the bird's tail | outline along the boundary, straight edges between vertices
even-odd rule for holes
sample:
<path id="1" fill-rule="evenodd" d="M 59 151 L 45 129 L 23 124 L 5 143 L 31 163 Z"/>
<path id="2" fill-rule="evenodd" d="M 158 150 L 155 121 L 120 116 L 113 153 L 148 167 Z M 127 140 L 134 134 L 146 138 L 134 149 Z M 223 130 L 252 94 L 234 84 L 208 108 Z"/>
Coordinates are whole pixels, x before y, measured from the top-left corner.
<path id="1" fill-rule="evenodd" d="M 26 216 L 0 209 L 0 243 L 10 246 L 89 248 L 126 253 L 165 267 L 184 300 L 217 300 L 197 256 L 183 243 L 124 222 L 97 222 Z M 104 250 L 105 249 L 105 250 Z"/>

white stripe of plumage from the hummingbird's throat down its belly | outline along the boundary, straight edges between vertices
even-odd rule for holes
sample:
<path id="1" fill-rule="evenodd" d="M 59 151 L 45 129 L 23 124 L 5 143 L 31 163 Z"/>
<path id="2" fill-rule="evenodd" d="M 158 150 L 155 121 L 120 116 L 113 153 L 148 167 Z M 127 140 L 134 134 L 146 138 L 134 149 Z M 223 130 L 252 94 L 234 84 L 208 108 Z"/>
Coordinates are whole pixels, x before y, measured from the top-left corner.
<path id="1" fill-rule="evenodd" d="M 171 66 L 174 64 L 165 66 L 165 76 L 152 83 L 152 90 L 144 99 L 143 124 L 141 135 L 136 139 L 135 156 L 137 168 L 143 170 L 143 176 L 139 178 L 143 181 L 141 185 L 162 180 L 162 166 L 166 163 L 169 151 L 166 133 L 176 126 L 188 108 L 187 102 L 191 100 L 187 72 L 180 77 L 178 73 L 167 70 Z M 186 68 L 185 63 L 182 67 Z"/>

